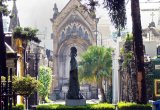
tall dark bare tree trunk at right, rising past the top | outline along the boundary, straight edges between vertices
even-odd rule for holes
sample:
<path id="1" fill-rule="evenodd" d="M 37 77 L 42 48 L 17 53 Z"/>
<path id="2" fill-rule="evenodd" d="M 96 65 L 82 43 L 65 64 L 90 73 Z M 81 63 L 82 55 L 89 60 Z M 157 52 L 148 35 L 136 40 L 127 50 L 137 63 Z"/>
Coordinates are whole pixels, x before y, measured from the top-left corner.
<path id="1" fill-rule="evenodd" d="M 137 80 L 138 80 L 138 102 L 146 104 L 146 82 L 144 70 L 144 53 L 143 53 L 143 39 L 142 28 L 140 19 L 140 6 L 139 0 L 131 0 L 131 13 L 132 13 L 132 33 L 134 41 L 134 51 L 137 63 Z"/>

